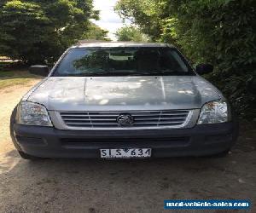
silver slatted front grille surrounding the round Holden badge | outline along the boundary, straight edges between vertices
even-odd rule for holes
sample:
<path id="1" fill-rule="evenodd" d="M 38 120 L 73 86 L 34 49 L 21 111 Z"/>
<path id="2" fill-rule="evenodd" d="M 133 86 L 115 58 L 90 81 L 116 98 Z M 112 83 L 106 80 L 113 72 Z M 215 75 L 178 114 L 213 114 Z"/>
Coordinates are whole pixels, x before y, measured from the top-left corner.
<path id="1" fill-rule="evenodd" d="M 126 112 L 60 112 L 61 119 L 73 129 L 105 128 L 147 128 L 182 127 L 189 120 L 189 110 L 172 111 L 130 111 L 134 123 L 129 127 L 120 126 L 117 118 Z"/>

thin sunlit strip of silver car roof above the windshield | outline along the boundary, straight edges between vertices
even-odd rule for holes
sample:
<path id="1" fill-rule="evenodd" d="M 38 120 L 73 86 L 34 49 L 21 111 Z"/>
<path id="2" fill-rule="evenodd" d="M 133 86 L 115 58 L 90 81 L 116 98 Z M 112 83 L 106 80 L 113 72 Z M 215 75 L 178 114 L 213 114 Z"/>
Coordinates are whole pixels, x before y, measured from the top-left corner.
<path id="1" fill-rule="evenodd" d="M 106 48 L 117 48 L 117 47 L 174 47 L 167 43 L 132 43 L 132 42 L 96 42 L 96 43 L 78 43 L 72 48 L 88 48 L 88 47 L 106 47 Z"/>

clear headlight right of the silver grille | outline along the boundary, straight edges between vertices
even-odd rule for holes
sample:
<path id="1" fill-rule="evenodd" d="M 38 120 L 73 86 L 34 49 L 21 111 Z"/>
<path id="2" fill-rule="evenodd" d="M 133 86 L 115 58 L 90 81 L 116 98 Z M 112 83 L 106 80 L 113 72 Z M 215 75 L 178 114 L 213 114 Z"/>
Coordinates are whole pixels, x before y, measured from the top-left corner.
<path id="1" fill-rule="evenodd" d="M 227 102 L 211 101 L 201 108 L 197 124 L 217 124 L 229 121 L 230 112 Z"/>

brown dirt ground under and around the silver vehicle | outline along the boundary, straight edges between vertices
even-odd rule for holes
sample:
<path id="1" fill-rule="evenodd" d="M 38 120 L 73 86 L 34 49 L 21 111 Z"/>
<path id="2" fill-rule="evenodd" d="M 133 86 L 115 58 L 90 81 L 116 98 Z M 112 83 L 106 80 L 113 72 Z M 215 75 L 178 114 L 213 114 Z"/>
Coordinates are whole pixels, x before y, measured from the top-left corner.
<path id="1" fill-rule="evenodd" d="M 225 158 L 21 159 L 9 116 L 36 81 L 0 90 L 0 212 L 177 212 L 165 199 L 251 199 L 256 212 L 256 134 L 246 123 Z"/>

